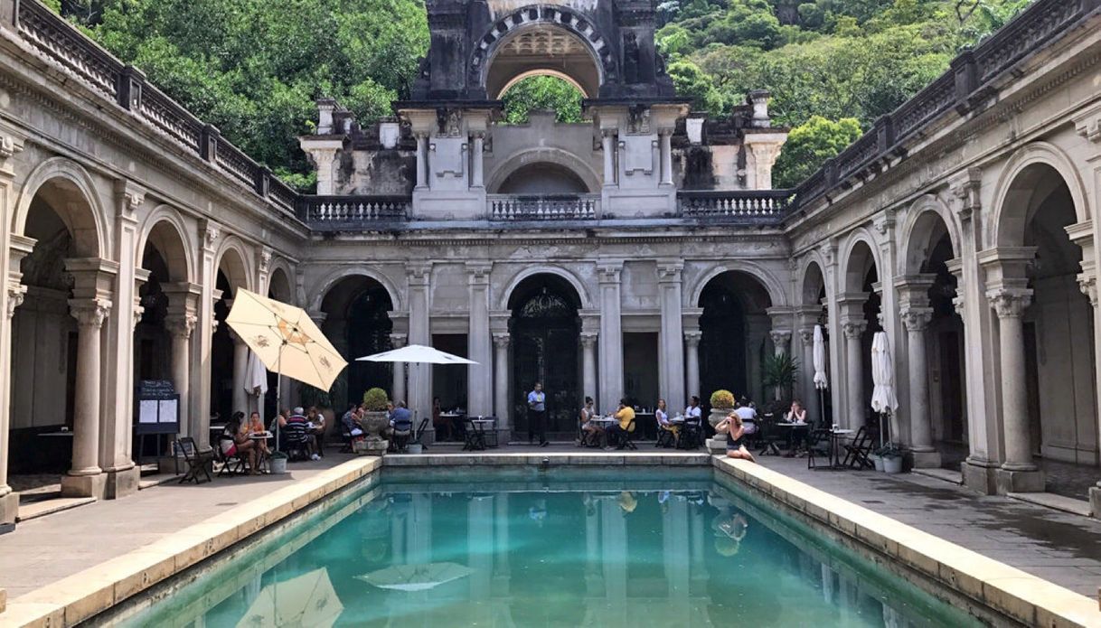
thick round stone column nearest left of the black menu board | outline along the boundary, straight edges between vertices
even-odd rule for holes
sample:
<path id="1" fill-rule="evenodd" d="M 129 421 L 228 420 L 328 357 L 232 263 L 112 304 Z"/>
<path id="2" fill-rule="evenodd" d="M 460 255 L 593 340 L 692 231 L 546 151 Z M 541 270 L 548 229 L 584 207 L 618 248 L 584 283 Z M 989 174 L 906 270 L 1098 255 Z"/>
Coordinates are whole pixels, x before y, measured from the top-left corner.
<path id="1" fill-rule="evenodd" d="M 70 299 L 77 321 L 76 394 L 73 400 L 73 469 L 62 478 L 68 497 L 103 497 L 106 478 L 99 466 L 100 330 L 111 311 L 106 299 Z"/>

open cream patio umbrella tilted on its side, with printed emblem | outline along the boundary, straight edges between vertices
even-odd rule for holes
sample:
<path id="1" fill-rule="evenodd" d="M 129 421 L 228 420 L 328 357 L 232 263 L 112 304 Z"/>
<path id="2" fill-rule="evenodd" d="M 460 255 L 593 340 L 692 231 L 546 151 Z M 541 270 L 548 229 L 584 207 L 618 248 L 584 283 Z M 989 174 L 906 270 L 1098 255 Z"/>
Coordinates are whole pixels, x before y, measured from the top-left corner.
<path id="1" fill-rule="evenodd" d="M 331 388 L 348 365 L 305 310 L 244 288 L 237 289 L 226 323 L 269 371 L 321 390 Z M 282 398 L 282 378 L 279 382 L 275 397 Z M 275 430 L 277 443 L 279 423 Z"/>

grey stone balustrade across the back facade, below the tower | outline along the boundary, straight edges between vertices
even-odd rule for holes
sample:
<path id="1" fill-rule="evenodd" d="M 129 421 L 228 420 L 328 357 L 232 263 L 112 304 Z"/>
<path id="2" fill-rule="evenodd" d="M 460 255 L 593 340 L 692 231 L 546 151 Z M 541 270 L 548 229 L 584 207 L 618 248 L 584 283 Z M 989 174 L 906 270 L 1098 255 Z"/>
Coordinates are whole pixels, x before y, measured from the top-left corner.
<path id="1" fill-rule="evenodd" d="M 674 222 L 686 225 L 775 225 L 788 212 L 791 190 L 677 192 L 676 211 L 663 217 L 633 218 L 601 210 L 599 194 L 488 195 L 486 214 L 473 221 L 486 227 L 508 224 L 560 228 L 581 222 L 599 227 L 637 221 L 640 225 Z M 303 196 L 298 217 L 315 231 L 375 231 L 413 227 L 418 220 L 408 196 Z M 433 221 L 434 227 L 442 222 Z M 455 221 L 469 228 L 469 220 Z"/>

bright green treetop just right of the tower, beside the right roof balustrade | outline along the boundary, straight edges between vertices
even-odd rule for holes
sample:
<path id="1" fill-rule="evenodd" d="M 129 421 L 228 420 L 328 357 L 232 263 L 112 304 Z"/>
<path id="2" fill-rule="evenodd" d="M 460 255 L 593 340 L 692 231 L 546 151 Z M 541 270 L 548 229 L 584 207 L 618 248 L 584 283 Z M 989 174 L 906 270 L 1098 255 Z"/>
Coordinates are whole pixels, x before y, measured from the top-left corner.
<path id="1" fill-rule="evenodd" d="M 787 143 L 773 168 L 773 185 L 777 188 L 797 186 L 826 159 L 855 142 L 861 133 L 860 122 L 855 118 L 842 118 L 833 122 L 821 115 L 811 115 L 787 135 Z"/>

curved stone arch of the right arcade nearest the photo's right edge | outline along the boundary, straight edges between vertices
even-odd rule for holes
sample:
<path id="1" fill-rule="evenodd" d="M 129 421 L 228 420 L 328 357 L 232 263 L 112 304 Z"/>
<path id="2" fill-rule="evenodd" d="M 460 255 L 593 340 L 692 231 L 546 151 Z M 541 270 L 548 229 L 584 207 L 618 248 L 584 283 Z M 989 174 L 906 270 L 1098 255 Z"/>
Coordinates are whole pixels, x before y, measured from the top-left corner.
<path id="1" fill-rule="evenodd" d="M 1075 206 L 1078 222 L 1090 219 L 1091 212 L 1087 202 L 1086 186 L 1067 154 L 1048 142 L 1033 142 L 1018 148 L 1002 168 L 994 188 L 994 219 L 991 229 L 993 246 L 1020 246 L 1024 240 L 1024 230 L 1028 221 L 1026 203 L 1010 202 L 1021 175 L 1026 175 L 1031 166 L 1044 165 L 1054 169 L 1062 178 Z M 1036 168 L 1033 168 L 1035 170 Z M 1012 207 L 1011 207 L 1012 206 Z M 1024 207 L 1024 209 L 1022 209 Z"/>

